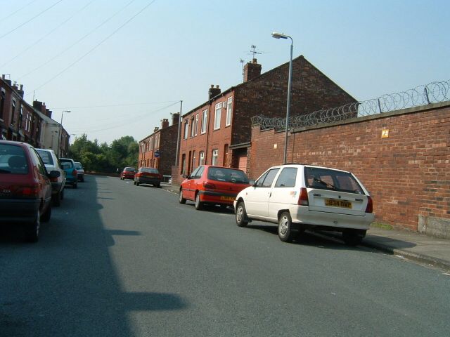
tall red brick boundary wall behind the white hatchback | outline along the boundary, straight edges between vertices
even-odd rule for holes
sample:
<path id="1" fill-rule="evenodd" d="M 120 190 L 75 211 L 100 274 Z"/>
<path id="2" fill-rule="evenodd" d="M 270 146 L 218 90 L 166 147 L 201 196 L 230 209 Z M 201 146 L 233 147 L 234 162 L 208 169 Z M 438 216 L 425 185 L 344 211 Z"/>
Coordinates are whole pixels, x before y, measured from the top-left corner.
<path id="1" fill-rule="evenodd" d="M 293 133 L 288 161 L 352 171 L 380 222 L 417 230 L 418 216 L 450 219 L 449 103 L 353 120 Z M 253 127 L 250 178 L 281 164 L 283 148 L 283 132 Z"/>

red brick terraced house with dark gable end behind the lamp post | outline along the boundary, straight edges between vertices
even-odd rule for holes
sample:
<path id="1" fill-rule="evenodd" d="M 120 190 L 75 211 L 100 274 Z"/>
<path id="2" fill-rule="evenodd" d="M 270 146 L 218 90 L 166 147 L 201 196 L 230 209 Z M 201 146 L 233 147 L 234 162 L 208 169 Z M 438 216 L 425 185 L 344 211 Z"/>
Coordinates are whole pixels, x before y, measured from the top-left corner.
<path id="1" fill-rule="evenodd" d="M 172 183 L 179 184 L 182 175 L 201 164 L 248 171 L 251 117 L 285 117 L 289 62 L 261 74 L 262 65 L 254 58 L 243 70 L 243 83 L 225 91 L 211 86 L 208 100 L 183 115 Z M 302 55 L 293 60 L 291 116 L 352 102 L 356 100 Z"/>

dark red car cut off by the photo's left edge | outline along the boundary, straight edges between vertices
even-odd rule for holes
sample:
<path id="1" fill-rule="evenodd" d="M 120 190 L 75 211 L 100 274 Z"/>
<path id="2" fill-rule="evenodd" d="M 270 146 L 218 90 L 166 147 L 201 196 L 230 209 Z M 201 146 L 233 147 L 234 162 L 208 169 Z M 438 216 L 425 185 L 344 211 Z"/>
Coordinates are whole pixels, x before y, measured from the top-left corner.
<path id="1" fill-rule="evenodd" d="M 41 220 L 51 216 L 51 178 L 34 147 L 0 140 L 0 223 L 23 223 L 27 241 L 37 242 Z"/>

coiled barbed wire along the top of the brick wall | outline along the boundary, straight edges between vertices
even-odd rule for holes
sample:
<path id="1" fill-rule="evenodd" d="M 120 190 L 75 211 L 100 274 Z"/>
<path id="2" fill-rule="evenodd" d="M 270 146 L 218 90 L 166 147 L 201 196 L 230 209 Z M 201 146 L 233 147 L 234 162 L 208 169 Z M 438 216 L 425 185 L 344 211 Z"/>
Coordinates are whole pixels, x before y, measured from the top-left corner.
<path id="1" fill-rule="evenodd" d="M 390 93 L 372 100 L 349 103 L 340 107 L 290 117 L 288 128 L 326 124 L 354 117 L 364 117 L 372 114 L 407 109 L 409 107 L 428 105 L 430 103 L 445 102 L 446 100 L 450 100 L 450 80 L 432 82 L 426 86 L 418 86 L 401 93 Z M 252 125 L 261 126 L 262 130 L 267 128 L 284 129 L 286 119 L 282 117 L 257 115 L 252 117 Z"/>

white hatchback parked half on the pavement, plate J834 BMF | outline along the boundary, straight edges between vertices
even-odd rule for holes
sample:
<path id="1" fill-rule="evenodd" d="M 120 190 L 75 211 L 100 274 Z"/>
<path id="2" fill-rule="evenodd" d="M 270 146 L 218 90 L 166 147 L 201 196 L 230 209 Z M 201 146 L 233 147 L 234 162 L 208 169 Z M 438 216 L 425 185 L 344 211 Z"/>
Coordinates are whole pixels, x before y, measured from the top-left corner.
<path id="1" fill-rule="evenodd" d="M 352 173 L 321 166 L 274 166 L 234 201 L 236 224 L 278 223 L 278 237 L 292 241 L 305 229 L 342 232 L 348 245 L 361 243 L 373 222 L 373 202 Z"/>

